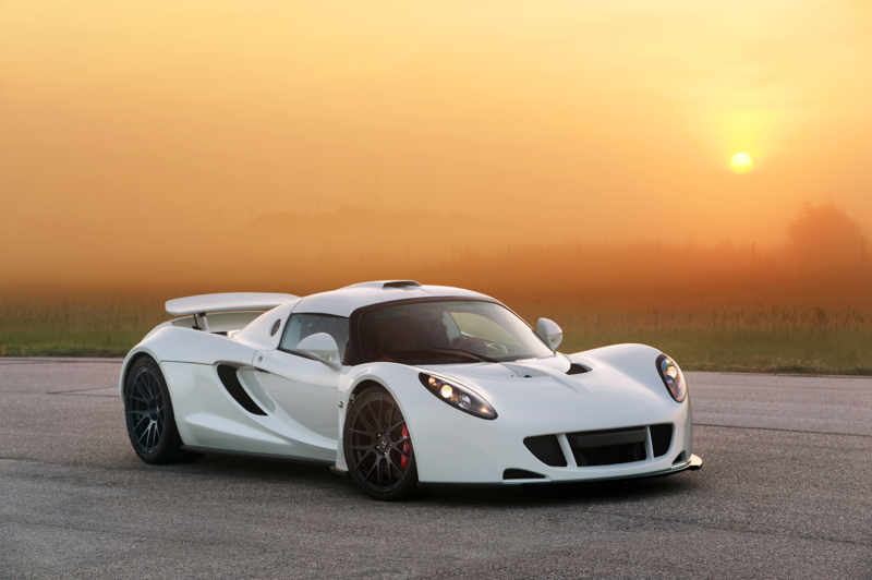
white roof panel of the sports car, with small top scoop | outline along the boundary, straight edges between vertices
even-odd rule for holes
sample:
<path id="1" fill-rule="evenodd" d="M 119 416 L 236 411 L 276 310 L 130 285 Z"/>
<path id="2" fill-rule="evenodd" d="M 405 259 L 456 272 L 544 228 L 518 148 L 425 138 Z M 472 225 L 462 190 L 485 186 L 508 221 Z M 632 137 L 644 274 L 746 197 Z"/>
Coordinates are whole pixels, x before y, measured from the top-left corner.
<path id="1" fill-rule="evenodd" d="M 311 294 L 300 300 L 294 306 L 294 314 L 330 314 L 334 316 L 351 316 L 351 313 L 362 306 L 392 302 L 396 300 L 410 300 L 415 298 L 469 298 L 473 300 L 494 299 L 471 290 L 451 288 L 449 286 L 424 286 L 413 280 L 379 280 L 363 282 Z"/>

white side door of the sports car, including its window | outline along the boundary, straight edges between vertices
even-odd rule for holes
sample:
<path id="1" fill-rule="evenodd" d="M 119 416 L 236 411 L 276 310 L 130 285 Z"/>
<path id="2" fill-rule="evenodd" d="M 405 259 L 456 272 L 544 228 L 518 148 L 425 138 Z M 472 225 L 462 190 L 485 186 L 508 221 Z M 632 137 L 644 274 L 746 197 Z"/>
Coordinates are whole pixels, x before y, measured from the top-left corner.
<path id="1" fill-rule="evenodd" d="M 264 390 L 276 402 L 275 415 L 288 426 L 338 440 L 339 379 L 341 372 L 294 351 L 305 337 L 327 333 L 340 354 L 348 343 L 348 318 L 322 314 L 293 314 L 279 348 L 258 351 L 255 367 Z"/>

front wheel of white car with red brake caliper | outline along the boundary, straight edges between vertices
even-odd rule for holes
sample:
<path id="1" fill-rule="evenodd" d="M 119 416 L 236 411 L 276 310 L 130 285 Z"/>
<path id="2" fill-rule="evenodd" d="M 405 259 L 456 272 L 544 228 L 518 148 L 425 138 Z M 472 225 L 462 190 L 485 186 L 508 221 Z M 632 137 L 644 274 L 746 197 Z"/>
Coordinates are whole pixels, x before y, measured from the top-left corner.
<path id="1" fill-rule="evenodd" d="M 392 502 L 417 494 L 409 428 L 384 387 L 371 387 L 354 397 L 342 442 L 351 480 L 370 497 Z"/>

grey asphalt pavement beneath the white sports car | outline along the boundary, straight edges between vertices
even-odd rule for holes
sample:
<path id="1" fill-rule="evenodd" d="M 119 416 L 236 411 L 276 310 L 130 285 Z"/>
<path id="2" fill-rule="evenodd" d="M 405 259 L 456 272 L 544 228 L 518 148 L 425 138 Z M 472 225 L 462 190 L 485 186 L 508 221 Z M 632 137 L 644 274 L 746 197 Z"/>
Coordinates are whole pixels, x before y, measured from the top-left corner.
<path id="1" fill-rule="evenodd" d="M 700 471 L 385 504 L 131 449 L 117 360 L 0 359 L 0 578 L 872 578 L 872 379 L 688 373 Z"/>

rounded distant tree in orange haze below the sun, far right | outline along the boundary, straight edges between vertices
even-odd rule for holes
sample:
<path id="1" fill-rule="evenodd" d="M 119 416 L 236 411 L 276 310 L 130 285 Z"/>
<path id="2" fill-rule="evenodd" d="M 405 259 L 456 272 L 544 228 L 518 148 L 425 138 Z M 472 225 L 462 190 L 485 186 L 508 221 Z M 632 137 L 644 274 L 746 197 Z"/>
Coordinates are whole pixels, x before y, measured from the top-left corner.
<path id="1" fill-rule="evenodd" d="M 859 268 L 863 228 L 832 201 L 803 204 L 787 226 L 788 254 L 800 267 Z"/>

